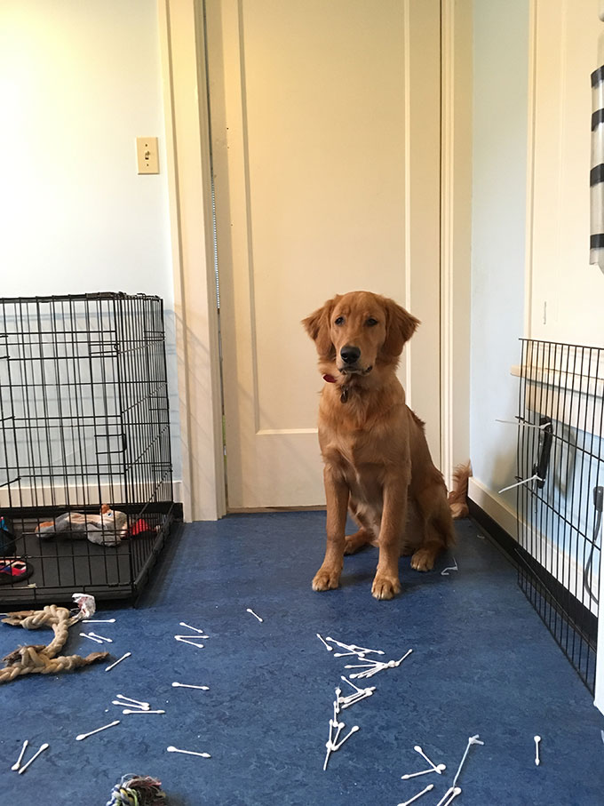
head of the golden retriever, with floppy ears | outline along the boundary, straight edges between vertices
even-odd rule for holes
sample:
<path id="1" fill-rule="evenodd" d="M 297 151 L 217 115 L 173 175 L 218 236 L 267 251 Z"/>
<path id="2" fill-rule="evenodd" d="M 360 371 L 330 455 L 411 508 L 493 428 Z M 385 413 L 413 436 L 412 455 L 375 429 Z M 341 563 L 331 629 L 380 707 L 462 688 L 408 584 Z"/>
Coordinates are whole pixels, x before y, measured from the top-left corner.
<path id="1" fill-rule="evenodd" d="M 419 321 L 392 299 L 351 291 L 328 299 L 302 323 L 320 363 L 335 363 L 342 375 L 364 376 L 375 367 L 396 365 Z"/>

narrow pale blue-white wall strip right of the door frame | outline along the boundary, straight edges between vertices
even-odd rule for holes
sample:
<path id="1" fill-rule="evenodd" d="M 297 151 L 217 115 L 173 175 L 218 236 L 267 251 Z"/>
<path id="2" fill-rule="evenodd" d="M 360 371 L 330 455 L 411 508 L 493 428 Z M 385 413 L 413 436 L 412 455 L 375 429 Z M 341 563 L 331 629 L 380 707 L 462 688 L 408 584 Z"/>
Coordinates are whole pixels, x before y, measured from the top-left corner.
<path id="1" fill-rule="evenodd" d="M 524 335 L 528 0 L 474 0 L 473 38 L 473 499 L 488 508 L 487 491 L 511 512 L 515 492 L 497 490 L 514 480 L 516 428 L 495 419 L 518 410 Z"/>

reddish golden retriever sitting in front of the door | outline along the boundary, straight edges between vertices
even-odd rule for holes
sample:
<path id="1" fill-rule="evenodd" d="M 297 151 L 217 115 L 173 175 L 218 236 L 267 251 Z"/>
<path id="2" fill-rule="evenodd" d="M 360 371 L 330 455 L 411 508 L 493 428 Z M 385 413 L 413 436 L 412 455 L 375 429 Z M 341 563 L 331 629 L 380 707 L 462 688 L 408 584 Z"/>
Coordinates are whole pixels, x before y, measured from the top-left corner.
<path id="1" fill-rule="evenodd" d="M 424 423 L 396 377 L 402 347 L 419 324 L 392 299 L 352 291 L 329 299 L 303 324 L 314 339 L 325 386 L 319 444 L 327 500 L 327 548 L 316 591 L 339 585 L 344 555 L 379 548 L 371 593 L 401 591 L 399 557 L 430 571 L 454 540 L 447 489 L 434 467 Z M 346 536 L 346 511 L 359 530 Z"/>

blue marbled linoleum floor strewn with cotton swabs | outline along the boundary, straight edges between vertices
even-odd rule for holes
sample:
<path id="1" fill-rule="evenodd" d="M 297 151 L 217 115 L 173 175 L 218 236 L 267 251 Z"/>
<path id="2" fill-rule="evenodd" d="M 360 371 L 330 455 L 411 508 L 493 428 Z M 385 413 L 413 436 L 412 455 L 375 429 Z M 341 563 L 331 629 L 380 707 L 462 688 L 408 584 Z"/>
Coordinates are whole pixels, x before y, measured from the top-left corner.
<path id="1" fill-rule="evenodd" d="M 101 806 L 123 773 L 161 778 L 171 806 L 395 806 L 429 783 L 417 803 L 436 806 L 465 751 L 455 806 L 604 803 L 604 717 L 516 584 L 516 574 L 469 520 L 453 552 L 429 574 L 401 560 L 402 593 L 370 595 L 375 549 L 346 558 L 338 591 L 314 593 L 322 560 L 321 512 L 230 516 L 187 525 L 157 567 L 137 609 L 104 610 L 115 625 L 105 665 L 22 678 L 0 687 L 0 802 Z M 264 618 L 258 622 L 246 608 Z M 177 642 L 180 621 L 210 636 Z M 72 628 L 66 651 L 97 650 Z M 367 681 L 373 696 L 340 714 L 344 736 L 322 771 L 332 701 L 348 658 L 316 633 L 385 651 L 401 666 Z M 48 633 L 28 634 L 48 642 Z M 0 653 L 25 642 L 0 625 Z M 175 689 L 171 683 L 208 685 Z M 341 683 L 343 689 L 346 684 Z M 123 715 L 118 693 L 165 714 Z M 346 693 L 348 691 L 346 690 Z M 76 735 L 120 718 L 85 741 Z M 533 737 L 542 737 L 536 767 Z M 23 775 L 10 770 L 28 738 L 49 749 Z M 442 776 L 425 770 L 418 744 Z M 210 759 L 166 752 L 207 752 Z M 26 759 L 28 755 L 26 755 Z"/>

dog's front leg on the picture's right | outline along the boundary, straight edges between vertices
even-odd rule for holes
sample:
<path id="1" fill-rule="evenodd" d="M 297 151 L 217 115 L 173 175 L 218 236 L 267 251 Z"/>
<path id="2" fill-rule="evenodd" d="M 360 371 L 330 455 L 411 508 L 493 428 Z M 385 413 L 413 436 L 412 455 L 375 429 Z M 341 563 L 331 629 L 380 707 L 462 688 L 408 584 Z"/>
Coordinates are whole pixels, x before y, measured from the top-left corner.
<path id="1" fill-rule="evenodd" d="M 409 474 L 388 479 L 384 485 L 382 524 L 379 530 L 379 559 L 371 593 L 376 599 L 392 599 L 401 593 L 399 557 L 401 531 L 407 518 Z"/>

